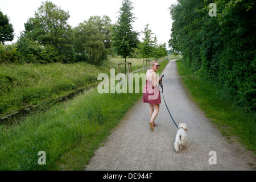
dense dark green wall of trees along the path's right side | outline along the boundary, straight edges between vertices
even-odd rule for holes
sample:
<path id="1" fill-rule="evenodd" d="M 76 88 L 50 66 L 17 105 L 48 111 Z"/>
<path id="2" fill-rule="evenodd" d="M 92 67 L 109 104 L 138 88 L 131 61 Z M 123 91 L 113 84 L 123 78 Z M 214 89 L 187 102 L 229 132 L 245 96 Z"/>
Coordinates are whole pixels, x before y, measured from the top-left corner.
<path id="1" fill-rule="evenodd" d="M 234 96 L 235 105 L 255 111 L 256 2 L 177 2 L 170 7 L 170 47 L 183 55 L 187 67 Z"/>

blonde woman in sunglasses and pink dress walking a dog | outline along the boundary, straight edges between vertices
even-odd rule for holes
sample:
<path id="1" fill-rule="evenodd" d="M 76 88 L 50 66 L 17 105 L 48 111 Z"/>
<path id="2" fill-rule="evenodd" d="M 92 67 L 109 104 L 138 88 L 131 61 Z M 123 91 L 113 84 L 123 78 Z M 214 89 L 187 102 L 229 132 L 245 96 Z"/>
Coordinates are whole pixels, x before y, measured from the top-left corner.
<path id="1" fill-rule="evenodd" d="M 161 96 L 158 89 L 158 82 L 161 82 L 161 78 L 156 78 L 156 71 L 158 71 L 160 65 L 156 61 L 152 61 L 151 69 L 148 69 L 146 73 L 146 85 L 143 90 L 143 102 L 150 105 L 150 129 L 154 131 L 155 118 L 159 112 L 159 104 L 161 104 Z"/>

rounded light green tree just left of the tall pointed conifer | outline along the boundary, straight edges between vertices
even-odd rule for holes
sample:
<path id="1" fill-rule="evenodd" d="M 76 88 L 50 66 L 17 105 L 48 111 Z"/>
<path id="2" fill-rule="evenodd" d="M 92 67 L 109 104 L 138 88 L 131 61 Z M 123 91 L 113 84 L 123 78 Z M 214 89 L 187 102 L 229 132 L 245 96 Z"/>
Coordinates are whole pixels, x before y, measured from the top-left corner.
<path id="1" fill-rule="evenodd" d="M 75 52 L 92 63 L 100 64 L 110 49 L 112 24 L 108 16 L 90 16 L 88 21 L 73 29 Z"/>

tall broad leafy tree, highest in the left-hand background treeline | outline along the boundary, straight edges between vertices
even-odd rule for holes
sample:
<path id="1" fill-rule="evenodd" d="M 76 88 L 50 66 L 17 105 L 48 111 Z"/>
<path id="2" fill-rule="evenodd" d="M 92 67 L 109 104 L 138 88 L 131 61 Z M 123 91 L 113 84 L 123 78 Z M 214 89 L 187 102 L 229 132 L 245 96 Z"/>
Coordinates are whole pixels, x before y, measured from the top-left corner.
<path id="1" fill-rule="evenodd" d="M 24 24 L 25 31 L 20 36 L 33 40 L 41 46 L 53 46 L 64 62 L 74 59 L 72 46 L 72 28 L 68 24 L 70 15 L 52 2 L 42 3 L 35 12 L 35 17 Z"/>

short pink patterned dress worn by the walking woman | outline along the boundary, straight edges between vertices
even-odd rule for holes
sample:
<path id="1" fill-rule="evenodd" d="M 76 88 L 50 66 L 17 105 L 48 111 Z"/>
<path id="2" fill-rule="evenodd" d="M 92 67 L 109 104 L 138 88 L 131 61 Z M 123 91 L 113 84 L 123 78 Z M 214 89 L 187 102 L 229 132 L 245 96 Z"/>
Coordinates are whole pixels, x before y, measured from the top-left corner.
<path id="1" fill-rule="evenodd" d="M 152 73 L 152 72 L 151 72 Z M 151 74 L 150 73 L 150 74 Z M 144 103 L 157 105 L 161 104 L 161 96 L 157 86 L 152 86 L 152 81 L 146 80 L 146 85 L 143 89 L 143 100 Z"/>

